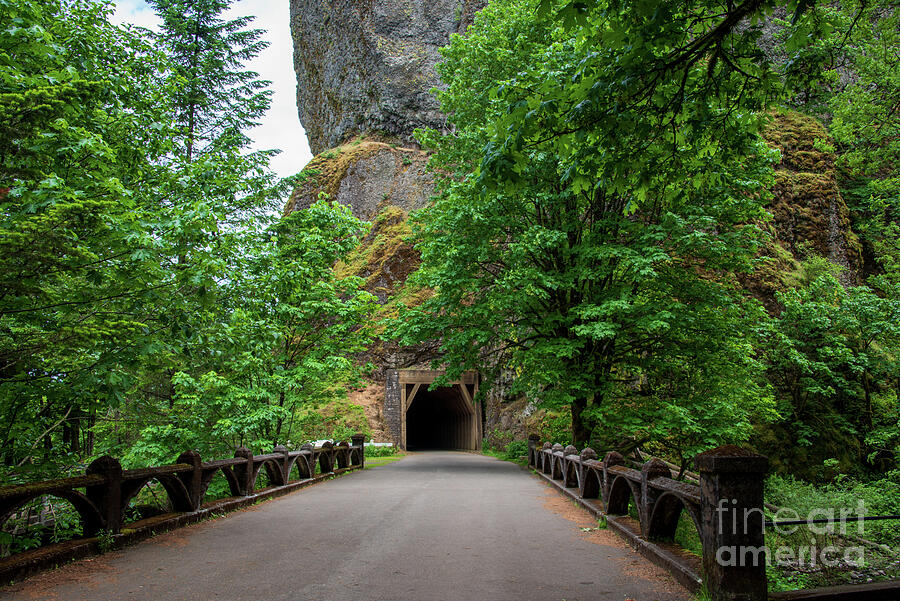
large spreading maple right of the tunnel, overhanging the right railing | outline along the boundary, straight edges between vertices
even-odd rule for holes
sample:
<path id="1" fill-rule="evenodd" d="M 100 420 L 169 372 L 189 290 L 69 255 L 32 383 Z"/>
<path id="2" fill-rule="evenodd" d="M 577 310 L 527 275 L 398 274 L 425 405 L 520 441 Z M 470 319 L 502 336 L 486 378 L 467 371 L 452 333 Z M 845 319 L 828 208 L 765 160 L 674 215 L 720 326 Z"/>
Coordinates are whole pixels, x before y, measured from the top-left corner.
<path id="1" fill-rule="evenodd" d="M 733 274 L 758 245 L 771 153 L 754 113 L 777 82 L 758 30 L 735 28 L 759 3 L 536 7 L 492 3 L 444 51 L 455 131 L 421 137 L 445 177 L 420 214 L 415 276 L 435 295 L 398 332 L 440 340 L 452 374 L 514 369 L 520 389 L 571 407 L 583 445 L 610 411 L 649 419 L 628 399 L 667 370 L 716 367 L 683 380 L 672 402 L 687 411 L 701 380 L 755 382 L 733 349 L 760 313 Z M 704 408 L 706 445 L 745 438 L 735 415 L 766 406 L 755 385 L 722 390 L 735 396 Z M 658 417 L 654 440 L 680 427 Z"/>

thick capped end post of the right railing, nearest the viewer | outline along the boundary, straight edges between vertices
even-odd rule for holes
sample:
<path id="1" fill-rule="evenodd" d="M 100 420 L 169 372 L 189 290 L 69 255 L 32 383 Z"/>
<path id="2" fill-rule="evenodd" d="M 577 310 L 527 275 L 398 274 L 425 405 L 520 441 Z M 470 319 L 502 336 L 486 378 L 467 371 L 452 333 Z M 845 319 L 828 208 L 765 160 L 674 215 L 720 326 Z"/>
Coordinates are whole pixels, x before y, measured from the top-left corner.
<path id="1" fill-rule="evenodd" d="M 769 460 L 723 446 L 697 455 L 703 583 L 713 601 L 767 597 L 763 483 Z"/>

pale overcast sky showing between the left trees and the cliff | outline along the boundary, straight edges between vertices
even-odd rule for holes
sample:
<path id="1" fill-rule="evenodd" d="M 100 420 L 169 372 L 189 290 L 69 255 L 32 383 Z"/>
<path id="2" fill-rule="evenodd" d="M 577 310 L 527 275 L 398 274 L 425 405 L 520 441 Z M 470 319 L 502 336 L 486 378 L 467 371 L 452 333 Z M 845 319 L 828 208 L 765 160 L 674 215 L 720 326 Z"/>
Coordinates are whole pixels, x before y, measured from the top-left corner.
<path id="1" fill-rule="evenodd" d="M 144 0 L 115 0 L 113 21 L 134 23 L 148 29 L 158 26 L 156 14 Z M 263 79 L 272 82 L 272 108 L 262 125 L 250 130 L 258 149 L 278 148 L 281 154 L 272 160 L 272 169 L 285 177 L 297 173 L 312 158 L 306 132 L 297 117 L 296 80 L 294 79 L 288 0 L 238 0 L 226 17 L 254 15 L 253 27 L 265 29 L 269 47 L 249 65 Z"/>

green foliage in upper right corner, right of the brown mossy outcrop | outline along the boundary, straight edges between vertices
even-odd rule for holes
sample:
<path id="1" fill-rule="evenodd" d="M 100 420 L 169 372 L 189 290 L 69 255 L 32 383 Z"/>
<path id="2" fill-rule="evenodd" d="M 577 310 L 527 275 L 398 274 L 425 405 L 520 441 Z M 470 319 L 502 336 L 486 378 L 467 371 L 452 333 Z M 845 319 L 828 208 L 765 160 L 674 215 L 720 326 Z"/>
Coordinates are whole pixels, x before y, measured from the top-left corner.
<path id="1" fill-rule="evenodd" d="M 813 42 L 788 53 L 793 101 L 829 125 L 853 210 L 853 227 L 880 272 L 877 288 L 900 281 L 900 7 L 890 0 L 818 3 L 806 29 Z M 798 28 L 783 24 L 787 34 Z"/>

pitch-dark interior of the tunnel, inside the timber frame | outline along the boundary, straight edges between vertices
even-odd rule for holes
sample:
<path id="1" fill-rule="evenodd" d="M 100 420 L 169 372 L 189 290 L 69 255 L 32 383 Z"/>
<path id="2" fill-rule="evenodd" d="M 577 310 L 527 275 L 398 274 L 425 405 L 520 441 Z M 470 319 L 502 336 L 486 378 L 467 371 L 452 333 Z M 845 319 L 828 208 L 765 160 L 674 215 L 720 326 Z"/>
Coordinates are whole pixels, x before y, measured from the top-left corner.
<path id="1" fill-rule="evenodd" d="M 406 412 L 406 448 L 474 450 L 475 411 L 459 388 L 422 388 Z"/>

